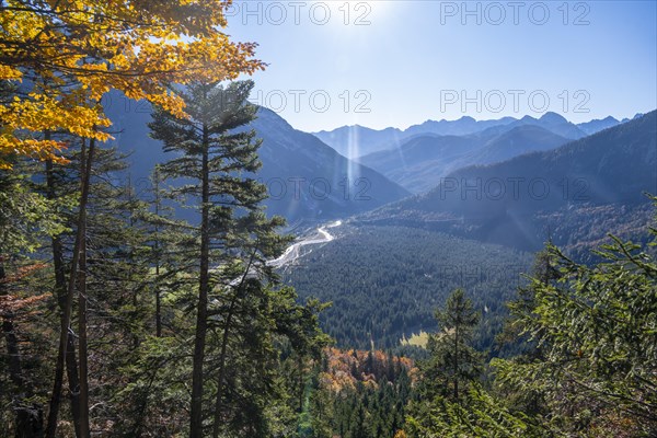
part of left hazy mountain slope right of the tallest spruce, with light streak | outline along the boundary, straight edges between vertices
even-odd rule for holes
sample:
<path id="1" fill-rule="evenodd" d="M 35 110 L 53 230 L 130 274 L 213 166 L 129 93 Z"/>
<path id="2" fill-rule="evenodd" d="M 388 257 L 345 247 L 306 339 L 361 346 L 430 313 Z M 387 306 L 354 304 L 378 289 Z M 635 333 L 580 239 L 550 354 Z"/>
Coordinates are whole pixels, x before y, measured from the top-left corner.
<path id="1" fill-rule="evenodd" d="M 341 218 L 410 195 L 313 135 L 292 128 L 270 110 L 261 108 L 252 126 L 264 140 L 258 177 L 269 185 L 272 197 L 266 204 L 272 214 L 288 220 Z M 285 196 L 280 196 L 281 182 L 287 188 Z"/>

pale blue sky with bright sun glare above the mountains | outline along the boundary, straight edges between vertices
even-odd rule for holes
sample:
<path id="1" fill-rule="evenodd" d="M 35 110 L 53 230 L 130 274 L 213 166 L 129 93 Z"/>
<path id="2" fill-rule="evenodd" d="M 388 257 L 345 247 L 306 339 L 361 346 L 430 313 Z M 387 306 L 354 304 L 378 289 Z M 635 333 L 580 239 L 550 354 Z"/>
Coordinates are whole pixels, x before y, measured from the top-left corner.
<path id="1" fill-rule="evenodd" d="M 303 130 L 657 107 L 656 1 L 240 1 L 252 101 Z"/>

